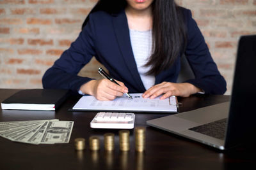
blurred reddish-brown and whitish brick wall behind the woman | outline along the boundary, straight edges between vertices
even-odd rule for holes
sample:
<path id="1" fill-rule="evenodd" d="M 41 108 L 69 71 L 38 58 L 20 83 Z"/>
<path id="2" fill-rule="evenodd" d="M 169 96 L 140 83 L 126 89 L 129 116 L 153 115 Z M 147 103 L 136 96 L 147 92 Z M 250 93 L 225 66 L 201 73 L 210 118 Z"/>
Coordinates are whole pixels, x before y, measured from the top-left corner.
<path id="1" fill-rule="evenodd" d="M 0 88 L 42 88 L 42 75 L 76 39 L 97 0 L 0 0 Z M 232 86 L 237 40 L 256 34 L 256 0 L 179 0 L 193 11 Z M 99 77 L 93 59 L 79 73 Z"/>

